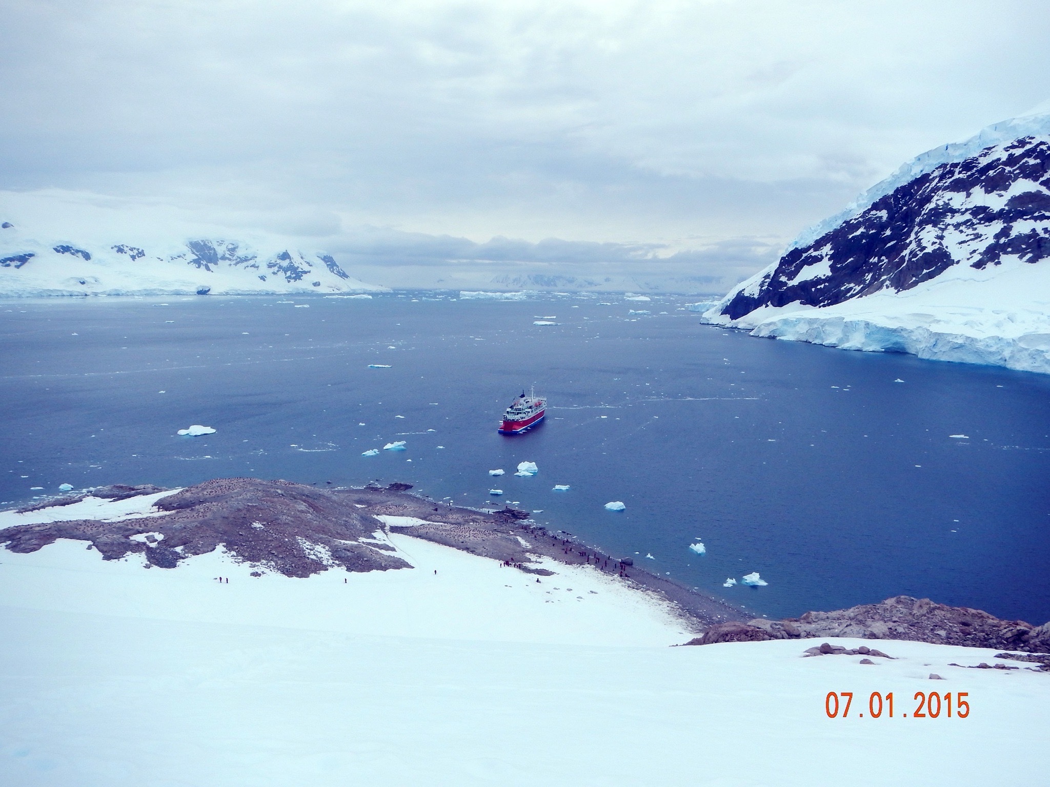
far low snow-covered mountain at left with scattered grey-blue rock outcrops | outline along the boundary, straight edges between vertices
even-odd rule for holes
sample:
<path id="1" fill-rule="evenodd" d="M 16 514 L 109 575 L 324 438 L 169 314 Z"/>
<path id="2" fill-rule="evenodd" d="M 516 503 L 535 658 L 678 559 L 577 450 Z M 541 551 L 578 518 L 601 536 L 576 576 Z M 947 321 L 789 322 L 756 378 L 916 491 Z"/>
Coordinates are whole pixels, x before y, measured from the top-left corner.
<path id="1" fill-rule="evenodd" d="M 299 251 L 276 237 L 202 237 L 184 230 L 85 234 L 23 228 L 0 215 L 0 296 L 385 290 L 353 278 L 324 252 Z"/>

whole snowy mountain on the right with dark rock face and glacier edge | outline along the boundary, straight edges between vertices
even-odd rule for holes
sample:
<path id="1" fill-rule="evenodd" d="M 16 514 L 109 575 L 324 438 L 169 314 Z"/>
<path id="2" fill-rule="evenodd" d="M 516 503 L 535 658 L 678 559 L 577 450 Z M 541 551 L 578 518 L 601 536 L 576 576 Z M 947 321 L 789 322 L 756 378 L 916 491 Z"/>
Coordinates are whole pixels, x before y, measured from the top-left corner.
<path id="1" fill-rule="evenodd" d="M 705 320 L 1050 373 L 1050 113 L 908 162 Z"/>

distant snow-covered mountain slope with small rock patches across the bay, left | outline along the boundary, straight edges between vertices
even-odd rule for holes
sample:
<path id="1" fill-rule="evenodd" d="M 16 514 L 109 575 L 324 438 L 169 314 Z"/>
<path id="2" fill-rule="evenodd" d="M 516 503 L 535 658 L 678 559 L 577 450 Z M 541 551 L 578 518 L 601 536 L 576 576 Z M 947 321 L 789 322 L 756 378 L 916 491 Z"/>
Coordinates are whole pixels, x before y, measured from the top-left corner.
<path id="1" fill-rule="evenodd" d="M 62 198 L 0 199 L 0 296 L 381 290 L 350 276 L 331 255 L 300 251 L 279 235 L 245 237 Z"/>

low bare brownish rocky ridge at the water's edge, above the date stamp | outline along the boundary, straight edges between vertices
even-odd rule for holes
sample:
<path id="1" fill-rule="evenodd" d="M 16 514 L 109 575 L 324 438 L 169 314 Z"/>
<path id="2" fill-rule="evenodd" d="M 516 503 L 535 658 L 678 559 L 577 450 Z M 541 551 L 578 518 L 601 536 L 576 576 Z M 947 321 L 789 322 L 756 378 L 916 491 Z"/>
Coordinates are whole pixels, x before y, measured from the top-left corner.
<path id="1" fill-rule="evenodd" d="M 904 639 L 967 647 L 1050 653 L 1050 623 L 1000 620 L 981 610 L 948 607 L 928 598 L 895 596 L 876 604 L 835 612 L 807 612 L 800 618 L 720 623 L 687 644 L 753 642 L 766 639 L 857 637 Z"/>

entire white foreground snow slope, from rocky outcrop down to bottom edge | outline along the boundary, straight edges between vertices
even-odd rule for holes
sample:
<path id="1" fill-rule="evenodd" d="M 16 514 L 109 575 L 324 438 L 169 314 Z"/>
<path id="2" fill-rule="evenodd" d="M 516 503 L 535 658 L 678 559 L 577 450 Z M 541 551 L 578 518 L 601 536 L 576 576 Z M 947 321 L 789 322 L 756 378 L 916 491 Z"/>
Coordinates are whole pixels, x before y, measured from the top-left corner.
<path id="1" fill-rule="evenodd" d="M 537 583 L 391 540 L 416 569 L 0 553 L 0 781 L 969 787 L 1050 743 L 1050 676 L 994 651 L 880 640 L 894 660 L 865 665 L 802 658 L 822 640 L 668 647 L 687 638 L 673 617 L 589 567 Z M 1021 668 L 965 668 L 981 662 Z M 967 693 L 969 716 L 942 700 L 910 718 L 934 690 Z M 827 718 L 828 692 L 854 693 L 847 718 Z M 895 694 L 894 718 L 869 718 L 873 692 Z"/>

